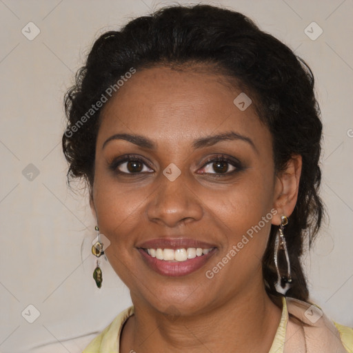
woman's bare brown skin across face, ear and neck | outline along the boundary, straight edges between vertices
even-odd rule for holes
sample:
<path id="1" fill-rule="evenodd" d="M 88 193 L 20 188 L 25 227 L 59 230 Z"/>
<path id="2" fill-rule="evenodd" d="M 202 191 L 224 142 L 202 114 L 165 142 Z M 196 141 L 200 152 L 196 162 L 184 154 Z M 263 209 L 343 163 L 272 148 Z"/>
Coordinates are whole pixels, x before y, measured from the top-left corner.
<path id="1" fill-rule="evenodd" d="M 121 335 L 123 353 L 268 352 L 281 318 L 281 308 L 265 292 L 261 258 L 271 223 L 279 225 L 281 215 L 289 217 L 294 209 L 301 157 L 293 156 L 276 173 L 268 128 L 252 105 L 245 111 L 234 105 L 240 90 L 204 69 L 138 71 L 101 114 L 90 204 L 110 240 L 105 254 L 135 307 Z M 192 146 L 196 139 L 230 131 L 254 145 L 226 139 Z M 123 139 L 105 143 L 114 134 L 141 135 L 155 149 Z M 117 173 L 128 172 L 128 163 L 109 168 L 125 154 L 150 164 L 139 174 Z M 208 160 L 219 154 L 243 167 L 226 164 L 236 172 L 216 174 L 220 169 Z M 170 163 L 181 170 L 175 181 L 163 174 Z M 205 270 L 271 210 L 278 212 L 272 220 L 214 278 L 206 278 Z M 145 264 L 137 244 L 163 236 L 207 241 L 217 249 L 192 274 L 162 276 Z"/>

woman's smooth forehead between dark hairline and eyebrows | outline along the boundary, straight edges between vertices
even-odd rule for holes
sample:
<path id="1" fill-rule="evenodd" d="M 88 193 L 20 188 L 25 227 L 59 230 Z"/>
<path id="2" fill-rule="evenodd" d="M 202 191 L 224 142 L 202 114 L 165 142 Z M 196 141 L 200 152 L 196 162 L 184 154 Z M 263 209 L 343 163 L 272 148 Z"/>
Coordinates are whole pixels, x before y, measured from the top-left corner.
<path id="1" fill-rule="evenodd" d="M 252 104 L 241 110 L 239 99 L 234 103 L 239 94 L 248 105 L 248 95 L 207 67 L 138 70 L 103 107 L 97 143 L 120 132 L 143 134 L 157 144 L 187 143 L 230 130 L 258 140 L 261 134 L 268 138 Z"/>

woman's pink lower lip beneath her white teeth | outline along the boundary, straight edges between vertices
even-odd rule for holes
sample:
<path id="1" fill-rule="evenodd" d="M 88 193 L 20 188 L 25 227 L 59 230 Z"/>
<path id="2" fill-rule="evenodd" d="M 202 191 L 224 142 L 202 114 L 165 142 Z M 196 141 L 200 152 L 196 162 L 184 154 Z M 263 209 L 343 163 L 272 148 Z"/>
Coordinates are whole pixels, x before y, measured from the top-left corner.
<path id="1" fill-rule="evenodd" d="M 174 262 L 159 260 L 150 256 L 147 252 L 145 252 L 145 250 L 138 250 L 143 260 L 150 266 L 150 268 L 152 268 L 152 270 L 163 276 L 171 277 L 185 276 L 186 274 L 190 274 L 196 270 L 199 270 L 216 252 L 216 248 L 214 248 L 208 254 L 196 256 L 194 259 Z"/>

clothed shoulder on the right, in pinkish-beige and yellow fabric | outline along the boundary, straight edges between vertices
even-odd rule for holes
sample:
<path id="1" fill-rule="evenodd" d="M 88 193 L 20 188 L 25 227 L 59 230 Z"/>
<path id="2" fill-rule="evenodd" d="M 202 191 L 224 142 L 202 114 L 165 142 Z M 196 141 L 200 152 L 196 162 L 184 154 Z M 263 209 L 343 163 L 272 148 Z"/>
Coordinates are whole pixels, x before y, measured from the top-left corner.
<path id="1" fill-rule="evenodd" d="M 353 353 L 353 329 L 334 323 L 318 305 L 287 298 L 288 332 L 305 346 L 307 352 Z M 287 340 L 286 340 L 287 341 Z M 288 346 L 292 345 L 288 341 Z M 286 343 L 287 345 L 287 343 Z"/>

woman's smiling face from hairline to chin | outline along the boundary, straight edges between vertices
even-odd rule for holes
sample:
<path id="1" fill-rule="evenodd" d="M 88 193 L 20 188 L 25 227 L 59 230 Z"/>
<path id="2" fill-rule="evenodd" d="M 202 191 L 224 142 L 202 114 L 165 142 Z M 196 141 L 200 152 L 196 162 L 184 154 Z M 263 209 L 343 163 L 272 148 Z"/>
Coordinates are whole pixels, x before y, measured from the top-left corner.
<path id="1" fill-rule="evenodd" d="M 102 111 L 91 205 L 135 305 L 194 314 L 263 290 L 279 179 L 239 94 L 211 70 L 150 68 Z"/>

